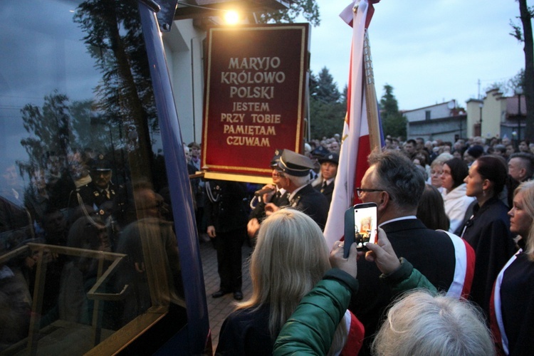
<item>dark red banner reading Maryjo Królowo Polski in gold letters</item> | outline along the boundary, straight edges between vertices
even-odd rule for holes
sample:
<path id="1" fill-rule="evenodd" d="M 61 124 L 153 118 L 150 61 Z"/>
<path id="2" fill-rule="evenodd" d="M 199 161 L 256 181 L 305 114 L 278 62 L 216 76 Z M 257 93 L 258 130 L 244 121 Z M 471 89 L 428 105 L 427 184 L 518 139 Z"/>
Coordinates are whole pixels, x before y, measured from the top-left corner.
<path id="1" fill-rule="evenodd" d="M 206 174 L 271 177 L 276 149 L 302 151 L 308 43 L 307 23 L 209 28 L 201 150 Z"/>

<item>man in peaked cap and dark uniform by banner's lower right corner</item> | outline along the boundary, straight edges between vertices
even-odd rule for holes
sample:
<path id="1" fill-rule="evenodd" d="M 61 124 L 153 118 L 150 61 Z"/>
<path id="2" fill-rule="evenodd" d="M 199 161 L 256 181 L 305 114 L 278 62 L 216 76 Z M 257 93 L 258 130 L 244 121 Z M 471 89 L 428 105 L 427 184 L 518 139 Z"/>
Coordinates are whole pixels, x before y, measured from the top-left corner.
<path id="1" fill-rule="evenodd" d="M 283 150 L 276 169 L 281 174 L 281 187 L 289 193 L 289 206 L 303 211 L 321 229 L 325 229 L 330 205 L 326 197 L 313 189 L 309 183 L 310 169 L 313 169 L 311 159 L 290 150 Z M 266 214 L 278 209 L 280 208 L 272 203 L 268 203 L 265 206 Z"/>

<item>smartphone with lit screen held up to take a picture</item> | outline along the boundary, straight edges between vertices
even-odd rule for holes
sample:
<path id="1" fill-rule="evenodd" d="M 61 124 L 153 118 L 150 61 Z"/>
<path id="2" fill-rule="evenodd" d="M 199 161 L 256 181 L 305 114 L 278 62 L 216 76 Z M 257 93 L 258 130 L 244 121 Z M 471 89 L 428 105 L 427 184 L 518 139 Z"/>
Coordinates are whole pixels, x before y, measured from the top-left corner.
<path id="1" fill-rule="evenodd" d="M 368 242 L 377 242 L 377 204 L 356 204 L 345 211 L 345 250 L 343 256 L 348 258 L 350 246 L 357 244 L 358 250 L 364 250 Z"/>

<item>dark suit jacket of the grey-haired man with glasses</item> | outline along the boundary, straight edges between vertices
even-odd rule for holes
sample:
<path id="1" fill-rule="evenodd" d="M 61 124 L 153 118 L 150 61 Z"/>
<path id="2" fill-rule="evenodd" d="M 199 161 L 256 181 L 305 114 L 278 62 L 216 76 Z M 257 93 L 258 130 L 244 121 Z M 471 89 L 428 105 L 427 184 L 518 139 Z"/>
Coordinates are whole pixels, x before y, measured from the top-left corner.
<path id="1" fill-rule="evenodd" d="M 397 256 L 410 261 L 438 290 L 449 289 L 454 280 L 456 253 L 448 234 L 426 228 L 419 219 L 392 221 L 381 227 Z M 375 262 L 360 258 L 357 265 L 360 290 L 352 296 L 349 309 L 365 326 L 366 339 L 360 355 L 366 355 L 384 310 L 397 295 L 379 281 L 381 272 Z"/>

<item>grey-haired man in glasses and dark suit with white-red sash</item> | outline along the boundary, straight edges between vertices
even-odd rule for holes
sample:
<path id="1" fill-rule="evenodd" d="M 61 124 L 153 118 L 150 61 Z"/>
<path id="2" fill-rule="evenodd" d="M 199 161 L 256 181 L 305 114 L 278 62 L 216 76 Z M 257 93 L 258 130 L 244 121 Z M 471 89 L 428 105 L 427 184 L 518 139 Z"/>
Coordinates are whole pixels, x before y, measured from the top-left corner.
<path id="1" fill-rule="evenodd" d="M 474 256 L 471 246 L 458 236 L 427 229 L 415 216 L 425 184 L 422 172 L 406 155 L 393 150 L 373 152 L 369 163 L 357 194 L 363 202 L 377 204 L 379 227 L 397 256 L 406 258 L 447 295 L 468 293 L 473 276 L 469 271 L 474 271 L 474 258 L 468 258 Z M 379 281 L 375 263 L 360 258 L 357 264 L 360 290 L 353 295 L 350 310 L 365 325 L 361 355 L 366 355 L 380 318 L 396 295 Z"/>

